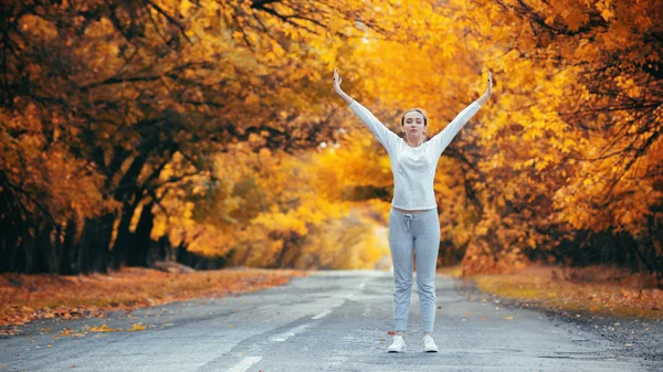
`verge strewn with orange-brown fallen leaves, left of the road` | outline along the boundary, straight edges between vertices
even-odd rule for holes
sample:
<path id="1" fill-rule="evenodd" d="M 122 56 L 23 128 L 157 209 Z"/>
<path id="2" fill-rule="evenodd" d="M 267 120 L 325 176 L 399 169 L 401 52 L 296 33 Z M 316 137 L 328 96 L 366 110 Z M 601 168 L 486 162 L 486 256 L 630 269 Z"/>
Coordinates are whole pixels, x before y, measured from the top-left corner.
<path id="1" fill-rule="evenodd" d="M 103 317 L 175 300 L 215 297 L 283 285 L 304 272 L 224 269 L 170 274 L 123 268 L 103 275 L 57 276 L 6 273 L 0 276 L 0 332 L 35 319 Z"/>

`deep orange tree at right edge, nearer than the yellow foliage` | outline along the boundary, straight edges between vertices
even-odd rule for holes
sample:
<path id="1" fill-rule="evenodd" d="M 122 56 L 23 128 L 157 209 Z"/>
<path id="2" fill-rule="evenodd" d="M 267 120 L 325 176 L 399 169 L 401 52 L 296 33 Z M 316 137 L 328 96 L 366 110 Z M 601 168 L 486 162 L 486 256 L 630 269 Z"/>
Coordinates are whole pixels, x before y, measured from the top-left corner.
<path id="1" fill-rule="evenodd" d="M 536 97 L 514 121 L 520 138 L 538 146 L 527 146 L 527 157 L 511 168 L 534 181 L 515 189 L 528 191 L 523 202 L 545 210 L 509 206 L 528 211 L 522 221 L 546 216 L 528 230 L 545 232 L 552 243 L 582 244 L 585 231 L 610 234 L 625 256 L 661 275 L 663 7 L 561 0 L 483 6 L 496 35 L 519 25 L 505 54 L 511 71 L 519 72 L 506 83 L 519 91 L 520 103 L 509 110 Z M 524 78 L 536 81 L 534 94 L 516 87 L 527 86 Z M 548 82 L 555 85 L 546 88 Z M 496 121 L 490 139 L 515 134 Z M 493 158 L 499 164 L 499 155 Z"/>

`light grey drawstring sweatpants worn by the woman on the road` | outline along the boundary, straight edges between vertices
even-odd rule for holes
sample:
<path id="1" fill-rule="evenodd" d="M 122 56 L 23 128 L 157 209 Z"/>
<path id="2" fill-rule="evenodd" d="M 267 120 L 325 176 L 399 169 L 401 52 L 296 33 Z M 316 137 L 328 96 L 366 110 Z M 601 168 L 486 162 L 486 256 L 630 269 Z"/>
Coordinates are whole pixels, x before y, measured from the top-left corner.
<path id="1" fill-rule="evenodd" d="M 412 294 L 412 262 L 417 259 L 417 288 L 423 318 L 423 331 L 432 332 L 435 322 L 435 267 L 440 247 L 438 210 L 403 213 L 389 212 L 389 246 L 393 263 L 394 330 L 406 331 Z M 415 255 L 414 254 L 415 251 Z"/>

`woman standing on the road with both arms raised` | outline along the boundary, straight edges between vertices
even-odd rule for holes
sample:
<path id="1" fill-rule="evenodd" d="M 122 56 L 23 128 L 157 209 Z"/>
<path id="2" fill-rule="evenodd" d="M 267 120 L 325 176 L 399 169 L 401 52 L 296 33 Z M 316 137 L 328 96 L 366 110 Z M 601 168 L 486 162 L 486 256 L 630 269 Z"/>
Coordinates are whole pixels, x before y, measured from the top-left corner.
<path id="1" fill-rule="evenodd" d="M 417 249 L 417 287 L 423 317 L 423 351 L 438 352 L 433 340 L 435 321 L 435 266 L 440 247 L 440 219 L 433 192 L 438 159 L 463 125 L 478 111 L 493 94 L 488 86 L 483 96 L 463 109 L 448 126 L 425 141 L 428 118 L 418 108 L 409 109 L 401 118 L 403 138 L 382 125 L 366 107 L 340 88 L 338 70 L 334 71 L 334 91 L 352 113 L 372 131 L 387 149 L 393 173 L 393 199 L 389 212 L 389 246 L 393 263 L 393 343 L 389 352 L 404 352 L 403 334 L 408 326 L 412 293 L 412 262 Z"/>

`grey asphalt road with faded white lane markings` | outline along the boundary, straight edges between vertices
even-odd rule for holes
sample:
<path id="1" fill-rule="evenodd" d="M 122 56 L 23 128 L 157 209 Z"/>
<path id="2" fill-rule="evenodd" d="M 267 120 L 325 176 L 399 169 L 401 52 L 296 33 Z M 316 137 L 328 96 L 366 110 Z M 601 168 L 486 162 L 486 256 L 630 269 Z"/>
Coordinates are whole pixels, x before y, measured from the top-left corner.
<path id="1" fill-rule="evenodd" d="M 40 321 L 0 339 L 2 371 L 654 371 L 613 343 L 438 278 L 435 340 L 423 353 L 417 294 L 408 352 L 391 341 L 392 277 L 323 272 L 234 297 L 175 302 L 106 319 Z M 415 287 L 415 286 L 414 286 Z M 115 332 L 90 332 L 102 325 Z M 145 330 L 126 331 L 141 323 Z M 64 329 L 70 334 L 57 337 Z"/>

